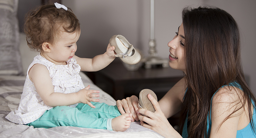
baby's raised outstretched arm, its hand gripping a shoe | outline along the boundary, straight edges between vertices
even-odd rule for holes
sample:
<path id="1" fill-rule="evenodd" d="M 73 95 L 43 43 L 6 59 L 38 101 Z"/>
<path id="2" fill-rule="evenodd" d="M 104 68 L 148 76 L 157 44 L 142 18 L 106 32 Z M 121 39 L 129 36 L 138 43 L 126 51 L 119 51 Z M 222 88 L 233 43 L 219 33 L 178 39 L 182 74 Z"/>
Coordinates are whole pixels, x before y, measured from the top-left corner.
<path id="1" fill-rule="evenodd" d="M 94 58 L 79 58 L 74 56 L 77 63 L 81 66 L 81 71 L 99 71 L 107 67 L 115 59 L 115 47 L 108 44 L 104 54 L 97 55 Z"/>

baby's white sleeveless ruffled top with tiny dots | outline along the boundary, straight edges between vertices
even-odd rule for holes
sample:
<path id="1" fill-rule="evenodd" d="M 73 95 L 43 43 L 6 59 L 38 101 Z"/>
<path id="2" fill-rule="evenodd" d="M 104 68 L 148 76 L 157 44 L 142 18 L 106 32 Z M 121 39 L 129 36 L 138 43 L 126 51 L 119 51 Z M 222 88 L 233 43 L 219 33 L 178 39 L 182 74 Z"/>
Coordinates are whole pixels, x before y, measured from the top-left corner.
<path id="1" fill-rule="evenodd" d="M 11 122 L 28 124 L 41 117 L 46 110 L 53 108 L 44 104 L 35 89 L 34 83 L 28 77 L 29 69 L 35 64 L 42 64 L 48 69 L 54 92 L 72 93 L 85 88 L 78 74 L 81 67 L 77 64 L 76 59 L 69 59 L 67 65 L 55 65 L 39 54 L 28 67 L 19 107 L 6 116 L 6 119 Z M 70 107 L 76 107 L 77 104 L 70 105 Z"/>

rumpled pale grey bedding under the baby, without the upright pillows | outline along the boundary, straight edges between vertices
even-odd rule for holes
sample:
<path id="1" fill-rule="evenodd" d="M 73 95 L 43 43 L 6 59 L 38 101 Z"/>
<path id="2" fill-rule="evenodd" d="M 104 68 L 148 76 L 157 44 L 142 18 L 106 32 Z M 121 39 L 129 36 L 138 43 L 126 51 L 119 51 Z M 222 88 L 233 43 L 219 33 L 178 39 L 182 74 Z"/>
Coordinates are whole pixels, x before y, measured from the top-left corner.
<path id="1" fill-rule="evenodd" d="M 79 73 L 85 86 L 100 91 L 100 102 L 115 105 L 116 101 L 101 90 L 82 72 Z M 79 127 L 34 128 L 10 122 L 5 116 L 18 107 L 25 76 L 0 76 L 0 138 L 163 138 L 139 122 L 132 122 L 124 132 Z"/>

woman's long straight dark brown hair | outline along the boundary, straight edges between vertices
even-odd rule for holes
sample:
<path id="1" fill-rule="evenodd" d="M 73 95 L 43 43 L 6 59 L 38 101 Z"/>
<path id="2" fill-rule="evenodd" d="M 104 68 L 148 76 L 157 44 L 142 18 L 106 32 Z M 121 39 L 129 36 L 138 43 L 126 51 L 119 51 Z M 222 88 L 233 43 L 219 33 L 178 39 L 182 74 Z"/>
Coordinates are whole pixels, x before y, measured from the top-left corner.
<path id="1" fill-rule="evenodd" d="M 208 138 L 207 119 L 215 91 L 232 81 L 238 82 L 244 95 L 242 106 L 237 110 L 247 104 L 250 118 L 253 114 L 251 99 L 255 102 L 255 97 L 242 70 L 240 34 L 235 19 L 226 11 L 212 7 L 187 7 L 183 9 L 182 17 L 188 88 L 182 105 L 180 133 L 188 114 L 188 122 L 192 125 L 188 137 Z M 228 118 L 230 116 L 226 120 Z"/>

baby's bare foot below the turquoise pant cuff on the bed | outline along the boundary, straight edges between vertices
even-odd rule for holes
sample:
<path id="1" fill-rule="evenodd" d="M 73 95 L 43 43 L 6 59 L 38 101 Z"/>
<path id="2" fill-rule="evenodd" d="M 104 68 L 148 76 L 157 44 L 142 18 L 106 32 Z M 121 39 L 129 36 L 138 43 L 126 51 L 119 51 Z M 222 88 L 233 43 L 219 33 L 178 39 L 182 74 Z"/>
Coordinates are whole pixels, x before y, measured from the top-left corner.
<path id="1" fill-rule="evenodd" d="M 114 131 L 125 131 L 130 127 L 132 120 L 132 114 L 126 113 L 116 118 L 113 118 L 111 121 L 112 129 Z"/>

